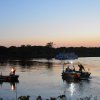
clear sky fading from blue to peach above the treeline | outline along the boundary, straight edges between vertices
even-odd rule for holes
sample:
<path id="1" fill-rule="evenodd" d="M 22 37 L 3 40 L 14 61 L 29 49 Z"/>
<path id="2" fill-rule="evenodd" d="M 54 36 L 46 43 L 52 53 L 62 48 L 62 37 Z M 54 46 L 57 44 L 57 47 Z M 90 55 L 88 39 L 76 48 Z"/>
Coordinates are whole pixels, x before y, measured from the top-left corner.
<path id="1" fill-rule="evenodd" d="M 0 0 L 0 45 L 100 47 L 100 0 Z"/>

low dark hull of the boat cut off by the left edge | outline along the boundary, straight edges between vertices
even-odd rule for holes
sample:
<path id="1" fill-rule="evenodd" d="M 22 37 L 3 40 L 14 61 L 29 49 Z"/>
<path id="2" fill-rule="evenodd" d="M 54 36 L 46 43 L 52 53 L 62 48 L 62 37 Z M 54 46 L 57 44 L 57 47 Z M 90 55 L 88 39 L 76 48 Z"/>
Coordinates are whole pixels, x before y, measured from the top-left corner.
<path id="1" fill-rule="evenodd" d="M 0 75 L 0 82 L 17 82 L 19 75 Z"/>

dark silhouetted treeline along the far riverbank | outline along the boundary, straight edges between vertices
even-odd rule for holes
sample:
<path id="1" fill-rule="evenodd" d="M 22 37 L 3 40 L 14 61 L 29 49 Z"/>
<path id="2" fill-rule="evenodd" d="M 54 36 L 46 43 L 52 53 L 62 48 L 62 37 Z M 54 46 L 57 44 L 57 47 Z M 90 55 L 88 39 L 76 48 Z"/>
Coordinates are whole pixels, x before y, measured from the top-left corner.
<path id="1" fill-rule="evenodd" d="M 74 52 L 78 57 L 100 57 L 100 47 L 53 47 L 53 42 L 45 46 L 21 45 L 0 46 L 0 60 L 31 60 L 33 58 L 52 59 L 59 53 Z"/>

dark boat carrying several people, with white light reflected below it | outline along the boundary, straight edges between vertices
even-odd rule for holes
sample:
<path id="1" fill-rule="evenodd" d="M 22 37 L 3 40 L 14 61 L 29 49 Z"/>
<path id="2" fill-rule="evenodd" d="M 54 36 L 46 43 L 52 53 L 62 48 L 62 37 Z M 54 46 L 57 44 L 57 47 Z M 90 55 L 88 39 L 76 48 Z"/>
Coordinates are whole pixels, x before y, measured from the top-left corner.
<path id="1" fill-rule="evenodd" d="M 90 72 L 86 71 L 82 64 L 78 64 L 79 70 L 76 70 L 74 66 L 71 67 L 68 64 L 67 68 L 63 68 L 62 78 L 64 80 L 87 80 L 90 79 Z M 78 68 L 77 68 L 78 69 Z"/>

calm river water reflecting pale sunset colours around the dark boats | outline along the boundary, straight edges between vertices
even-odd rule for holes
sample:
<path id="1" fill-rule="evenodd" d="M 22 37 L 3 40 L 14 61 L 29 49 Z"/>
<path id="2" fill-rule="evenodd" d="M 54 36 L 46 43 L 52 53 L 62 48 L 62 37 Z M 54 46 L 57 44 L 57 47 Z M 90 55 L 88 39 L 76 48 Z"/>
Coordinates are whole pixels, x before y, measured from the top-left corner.
<path id="1" fill-rule="evenodd" d="M 79 58 L 92 73 L 89 81 L 68 83 L 62 80 L 62 65 L 57 60 L 33 60 L 26 62 L 10 61 L 0 63 L 0 71 L 9 74 L 11 67 L 16 67 L 19 74 L 19 83 L 0 83 L 0 98 L 3 100 L 17 100 L 21 95 L 30 95 L 30 100 L 35 100 L 41 95 L 44 100 L 49 97 L 57 97 L 65 94 L 68 100 L 76 100 L 79 97 L 97 96 L 100 100 L 100 58 Z"/>

